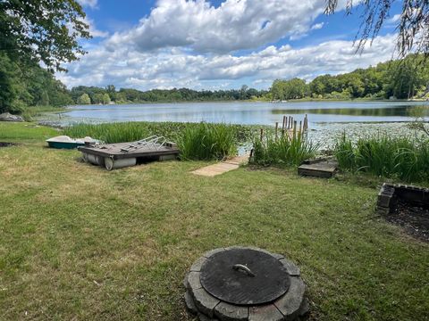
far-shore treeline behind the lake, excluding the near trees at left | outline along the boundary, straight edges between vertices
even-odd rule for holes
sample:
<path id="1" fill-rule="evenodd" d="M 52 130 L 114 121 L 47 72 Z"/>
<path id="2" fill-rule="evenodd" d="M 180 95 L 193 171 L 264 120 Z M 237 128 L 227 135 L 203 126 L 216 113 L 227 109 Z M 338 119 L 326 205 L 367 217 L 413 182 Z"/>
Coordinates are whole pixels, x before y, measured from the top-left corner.
<path id="1" fill-rule="evenodd" d="M 196 91 L 188 88 L 149 91 L 95 86 L 77 86 L 70 95 L 75 103 L 204 102 L 262 99 L 268 101 L 313 99 L 409 99 L 426 97 L 429 89 L 429 61 L 409 55 L 400 61 L 382 62 L 376 67 L 357 69 L 337 76 L 323 75 L 309 83 L 303 79 L 276 79 L 269 91 L 242 86 L 231 90 Z"/>

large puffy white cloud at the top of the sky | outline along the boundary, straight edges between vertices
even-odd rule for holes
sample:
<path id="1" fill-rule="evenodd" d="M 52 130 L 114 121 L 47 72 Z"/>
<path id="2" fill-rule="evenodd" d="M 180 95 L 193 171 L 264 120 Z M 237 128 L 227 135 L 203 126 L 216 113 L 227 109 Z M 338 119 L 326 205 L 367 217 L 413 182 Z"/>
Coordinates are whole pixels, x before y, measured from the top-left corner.
<path id="1" fill-rule="evenodd" d="M 158 0 L 136 28 L 115 34 L 108 46 L 114 50 L 134 45 L 140 52 L 189 47 L 198 53 L 231 53 L 305 35 L 325 5 L 325 0 L 226 0 L 215 8 L 206 0 Z M 345 0 L 340 1 L 339 9 L 344 5 Z"/>

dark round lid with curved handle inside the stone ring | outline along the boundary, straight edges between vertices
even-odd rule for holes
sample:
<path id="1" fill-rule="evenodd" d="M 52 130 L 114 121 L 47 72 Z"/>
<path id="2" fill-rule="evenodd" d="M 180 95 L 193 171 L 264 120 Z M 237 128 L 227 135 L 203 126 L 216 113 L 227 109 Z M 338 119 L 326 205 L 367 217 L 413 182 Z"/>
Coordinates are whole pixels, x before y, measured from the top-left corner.
<path id="1" fill-rule="evenodd" d="M 290 276 L 282 262 L 268 252 L 237 248 L 219 251 L 206 259 L 200 282 L 219 300 L 258 305 L 286 293 Z"/>

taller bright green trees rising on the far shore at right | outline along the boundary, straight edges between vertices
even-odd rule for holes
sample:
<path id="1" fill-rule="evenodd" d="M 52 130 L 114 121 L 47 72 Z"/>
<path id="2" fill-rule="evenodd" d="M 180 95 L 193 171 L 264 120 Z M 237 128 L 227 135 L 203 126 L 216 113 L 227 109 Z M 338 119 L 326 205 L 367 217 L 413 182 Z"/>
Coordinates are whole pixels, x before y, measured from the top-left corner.
<path id="1" fill-rule="evenodd" d="M 337 76 L 323 75 L 308 84 L 299 78 L 274 80 L 268 98 L 409 99 L 429 97 L 429 60 L 410 54 L 404 60 L 382 62 Z"/>

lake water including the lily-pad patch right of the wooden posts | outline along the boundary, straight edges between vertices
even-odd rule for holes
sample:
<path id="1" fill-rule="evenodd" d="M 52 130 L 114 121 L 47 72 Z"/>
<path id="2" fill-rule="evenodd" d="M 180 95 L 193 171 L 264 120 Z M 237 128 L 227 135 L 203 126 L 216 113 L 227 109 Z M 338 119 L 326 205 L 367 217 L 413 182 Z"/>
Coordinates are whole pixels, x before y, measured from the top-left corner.
<path id="1" fill-rule="evenodd" d="M 388 133 L 389 136 L 415 135 L 407 124 L 416 111 L 429 117 L 428 102 L 299 102 L 299 103 L 152 103 L 125 105 L 71 106 L 61 114 L 46 114 L 47 123 L 57 126 L 72 123 L 116 121 L 226 122 L 245 125 L 282 123 L 282 116 L 296 120 L 308 115 L 308 137 L 332 147 L 345 131 L 353 139 Z M 282 126 L 282 125 L 280 125 Z"/>

